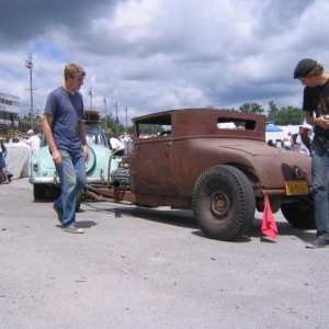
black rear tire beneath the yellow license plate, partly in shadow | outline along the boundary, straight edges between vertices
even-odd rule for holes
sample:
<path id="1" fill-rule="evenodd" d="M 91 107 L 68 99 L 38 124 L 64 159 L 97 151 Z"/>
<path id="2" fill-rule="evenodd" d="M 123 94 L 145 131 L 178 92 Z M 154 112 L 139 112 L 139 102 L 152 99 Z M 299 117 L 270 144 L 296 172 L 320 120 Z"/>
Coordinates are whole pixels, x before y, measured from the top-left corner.
<path id="1" fill-rule="evenodd" d="M 298 203 L 283 203 L 281 212 L 285 219 L 296 228 L 316 228 L 311 195 L 302 198 Z"/>

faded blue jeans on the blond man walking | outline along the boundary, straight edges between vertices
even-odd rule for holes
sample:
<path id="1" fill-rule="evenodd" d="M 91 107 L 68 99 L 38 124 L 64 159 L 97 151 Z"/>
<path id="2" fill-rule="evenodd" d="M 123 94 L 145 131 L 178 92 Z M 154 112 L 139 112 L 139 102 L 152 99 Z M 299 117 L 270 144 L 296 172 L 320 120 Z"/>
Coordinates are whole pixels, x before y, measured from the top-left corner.
<path id="1" fill-rule="evenodd" d="M 76 222 L 77 193 L 82 191 L 86 184 L 86 162 L 82 149 L 68 151 L 59 149 L 61 164 L 55 164 L 60 180 L 60 196 L 54 205 L 63 214 L 63 226 L 69 226 Z"/>

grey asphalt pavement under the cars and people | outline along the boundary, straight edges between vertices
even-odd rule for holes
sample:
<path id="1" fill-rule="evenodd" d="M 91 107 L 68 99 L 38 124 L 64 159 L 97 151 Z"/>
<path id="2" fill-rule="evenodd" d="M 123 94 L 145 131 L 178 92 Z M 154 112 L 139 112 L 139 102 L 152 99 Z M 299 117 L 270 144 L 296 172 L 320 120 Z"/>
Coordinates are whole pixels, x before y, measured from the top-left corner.
<path id="1" fill-rule="evenodd" d="M 63 231 L 27 179 L 0 186 L 0 328 L 328 328 L 329 249 L 262 214 L 238 241 L 206 238 L 189 211 L 86 202 Z"/>

